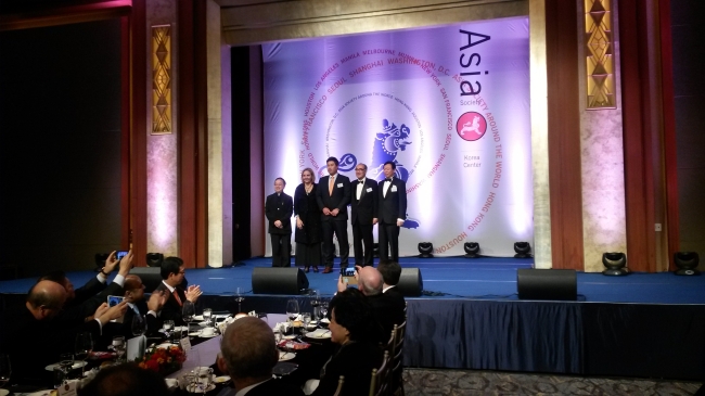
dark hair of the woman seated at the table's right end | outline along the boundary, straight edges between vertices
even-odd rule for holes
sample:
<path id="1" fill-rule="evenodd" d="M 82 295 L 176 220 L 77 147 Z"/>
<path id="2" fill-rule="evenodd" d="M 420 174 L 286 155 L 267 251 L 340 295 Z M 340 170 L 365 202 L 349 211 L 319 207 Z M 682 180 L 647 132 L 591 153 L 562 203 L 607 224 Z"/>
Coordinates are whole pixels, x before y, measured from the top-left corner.
<path id="1" fill-rule="evenodd" d="M 381 340 L 382 328 L 372 316 L 368 297 L 355 288 L 338 292 L 329 304 L 329 315 L 335 310 L 335 321 L 347 329 L 351 341 Z"/>

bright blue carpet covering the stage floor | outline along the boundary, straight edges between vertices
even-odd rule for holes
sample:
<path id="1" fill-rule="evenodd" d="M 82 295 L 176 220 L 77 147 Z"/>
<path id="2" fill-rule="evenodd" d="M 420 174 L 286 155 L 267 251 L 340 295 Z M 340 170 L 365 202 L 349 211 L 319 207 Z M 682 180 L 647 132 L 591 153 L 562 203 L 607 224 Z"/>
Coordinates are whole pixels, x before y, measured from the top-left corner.
<path id="1" fill-rule="evenodd" d="M 233 268 L 188 269 L 189 284 L 200 284 L 204 293 L 233 295 L 235 288 L 251 291 L 254 267 L 269 267 L 270 258 L 252 258 Z M 533 259 L 480 257 L 402 257 L 403 267 L 421 269 L 427 294 L 440 298 L 517 299 L 516 269 L 531 268 Z M 322 269 L 322 267 L 321 267 Z M 68 272 L 76 286 L 95 272 Z M 307 273 L 309 286 L 332 295 L 337 282 L 334 273 Z M 35 279 L 0 282 L 0 293 L 26 293 Z M 588 303 L 705 304 L 705 277 L 677 277 L 670 272 L 636 272 L 627 277 L 605 277 L 578 272 L 579 301 Z"/>

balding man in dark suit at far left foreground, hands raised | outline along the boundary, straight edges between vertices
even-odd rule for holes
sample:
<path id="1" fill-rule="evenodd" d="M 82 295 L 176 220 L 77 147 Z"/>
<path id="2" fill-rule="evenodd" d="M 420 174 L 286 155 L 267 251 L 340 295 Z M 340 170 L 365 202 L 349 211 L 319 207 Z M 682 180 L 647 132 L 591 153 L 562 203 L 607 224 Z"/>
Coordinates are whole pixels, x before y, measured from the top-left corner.
<path id="1" fill-rule="evenodd" d="M 53 319 L 66 302 L 66 295 L 61 284 L 39 281 L 29 290 L 22 306 L 4 312 L 0 321 L 0 353 L 10 356 L 13 382 L 26 384 L 51 380 L 51 373 L 44 367 L 56 362 L 67 344 L 73 349 L 75 332 L 88 331 L 98 336 L 102 324 L 121 316 L 127 307 L 127 304 L 121 304 L 108 309 L 107 304 L 103 304 L 93 314 L 94 320 L 84 323 L 80 329 L 63 329 Z"/>

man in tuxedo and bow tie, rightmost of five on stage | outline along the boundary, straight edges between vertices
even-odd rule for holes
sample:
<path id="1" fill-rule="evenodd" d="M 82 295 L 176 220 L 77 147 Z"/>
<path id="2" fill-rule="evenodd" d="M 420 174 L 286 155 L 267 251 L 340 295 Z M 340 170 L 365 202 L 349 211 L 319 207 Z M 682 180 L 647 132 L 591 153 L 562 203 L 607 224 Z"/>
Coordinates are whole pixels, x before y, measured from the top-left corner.
<path id="1" fill-rule="evenodd" d="M 384 163 L 384 177 L 380 181 L 380 259 L 389 258 L 399 263 L 399 229 L 407 218 L 407 183 L 394 177 L 397 165 Z"/>

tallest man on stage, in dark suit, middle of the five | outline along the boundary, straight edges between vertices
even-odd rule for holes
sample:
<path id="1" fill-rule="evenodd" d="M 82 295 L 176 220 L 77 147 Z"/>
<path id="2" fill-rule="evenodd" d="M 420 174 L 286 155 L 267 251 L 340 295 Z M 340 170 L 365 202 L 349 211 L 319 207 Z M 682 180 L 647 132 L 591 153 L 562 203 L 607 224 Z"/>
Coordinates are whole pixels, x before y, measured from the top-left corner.
<path id="1" fill-rule="evenodd" d="M 329 176 L 319 181 L 316 190 L 316 201 L 323 214 L 321 229 L 323 230 L 323 255 L 325 269 L 323 273 L 333 272 L 333 233 L 341 248 L 341 268 L 348 266 L 350 246 L 347 242 L 347 205 L 350 203 L 350 179 L 337 173 L 338 161 L 332 156 L 325 161 Z"/>

